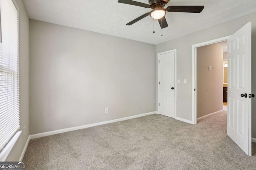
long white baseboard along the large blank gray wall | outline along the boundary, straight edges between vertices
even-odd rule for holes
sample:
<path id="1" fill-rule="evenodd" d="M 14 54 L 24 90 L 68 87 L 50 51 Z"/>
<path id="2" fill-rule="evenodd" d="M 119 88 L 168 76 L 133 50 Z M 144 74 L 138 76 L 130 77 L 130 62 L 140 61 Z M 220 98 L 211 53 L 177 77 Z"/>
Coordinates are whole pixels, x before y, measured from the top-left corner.
<path id="1" fill-rule="evenodd" d="M 114 120 L 110 120 L 110 121 L 103 121 L 103 122 L 93 123 L 93 124 L 89 124 L 89 125 L 70 127 L 70 128 L 60 129 L 60 130 L 56 130 L 56 131 L 49 131 L 49 132 L 44 132 L 44 133 L 38 133 L 38 134 L 30 135 L 30 139 L 35 139 L 35 138 L 49 136 L 49 135 L 55 135 L 55 134 L 58 134 L 58 133 L 64 133 L 64 132 L 69 132 L 69 131 L 75 131 L 75 130 L 78 130 L 78 129 L 85 129 L 85 128 L 88 128 L 88 127 L 104 125 L 104 124 L 114 123 L 114 122 L 118 122 L 118 121 L 124 121 L 124 120 L 128 120 L 128 119 L 134 119 L 134 118 L 137 118 L 137 117 L 142 117 L 142 116 L 146 116 L 146 115 L 152 115 L 152 114 L 155 114 L 155 113 L 156 113 L 156 111 L 152 111 L 152 112 L 149 112 L 149 113 L 143 113 L 143 114 L 140 114 L 140 115 L 123 117 L 123 118 L 120 118 L 120 119 L 114 119 Z"/>

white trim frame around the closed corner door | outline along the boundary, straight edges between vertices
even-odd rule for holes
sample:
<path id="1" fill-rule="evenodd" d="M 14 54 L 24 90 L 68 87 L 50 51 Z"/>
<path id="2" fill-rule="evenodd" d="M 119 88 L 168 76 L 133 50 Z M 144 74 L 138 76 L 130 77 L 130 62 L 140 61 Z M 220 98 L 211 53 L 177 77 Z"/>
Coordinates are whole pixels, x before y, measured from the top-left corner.
<path id="1" fill-rule="evenodd" d="M 156 84 L 157 84 L 157 112 L 159 110 L 159 89 L 158 89 L 158 60 L 159 60 L 159 56 L 162 54 L 166 54 L 166 53 L 171 53 L 174 52 L 174 119 L 176 119 L 176 97 L 177 97 L 177 49 L 173 49 L 173 50 L 169 50 L 169 51 L 164 51 L 162 53 L 158 53 L 157 54 L 157 79 L 156 79 Z M 158 112 L 159 114 L 159 112 Z"/>

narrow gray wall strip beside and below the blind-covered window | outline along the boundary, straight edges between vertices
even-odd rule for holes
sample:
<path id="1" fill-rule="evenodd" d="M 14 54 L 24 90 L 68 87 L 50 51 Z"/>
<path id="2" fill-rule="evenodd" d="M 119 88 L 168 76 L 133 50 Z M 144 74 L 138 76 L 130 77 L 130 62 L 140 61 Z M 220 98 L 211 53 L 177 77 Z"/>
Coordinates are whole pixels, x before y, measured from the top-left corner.
<path id="1" fill-rule="evenodd" d="M 22 0 L 16 0 L 19 8 L 19 76 L 20 76 L 20 135 L 6 161 L 18 161 L 29 135 L 29 18 Z"/>

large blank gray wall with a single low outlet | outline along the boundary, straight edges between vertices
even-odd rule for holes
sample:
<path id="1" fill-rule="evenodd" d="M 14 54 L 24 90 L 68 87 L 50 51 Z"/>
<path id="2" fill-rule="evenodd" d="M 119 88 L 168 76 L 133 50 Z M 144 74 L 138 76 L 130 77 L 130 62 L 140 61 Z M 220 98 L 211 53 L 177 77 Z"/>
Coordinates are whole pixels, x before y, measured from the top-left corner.
<path id="1" fill-rule="evenodd" d="M 155 111 L 155 50 L 30 20 L 30 134 Z"/>

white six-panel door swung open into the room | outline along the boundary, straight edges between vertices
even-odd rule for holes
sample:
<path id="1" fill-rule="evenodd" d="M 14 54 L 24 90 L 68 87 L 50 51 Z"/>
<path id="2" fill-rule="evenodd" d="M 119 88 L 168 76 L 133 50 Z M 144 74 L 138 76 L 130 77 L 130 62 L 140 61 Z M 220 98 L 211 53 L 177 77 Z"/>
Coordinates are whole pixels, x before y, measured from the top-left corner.
<path id="1" fill-rule="evenodd" d="M 228 39 L 228 136 L 252 155 L 251 23 Z"/>

